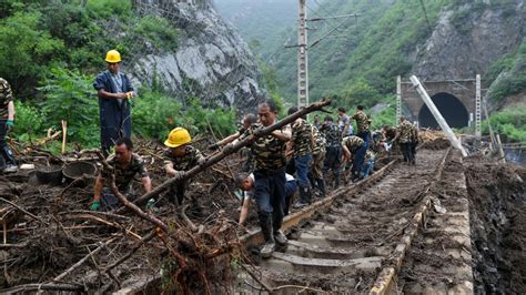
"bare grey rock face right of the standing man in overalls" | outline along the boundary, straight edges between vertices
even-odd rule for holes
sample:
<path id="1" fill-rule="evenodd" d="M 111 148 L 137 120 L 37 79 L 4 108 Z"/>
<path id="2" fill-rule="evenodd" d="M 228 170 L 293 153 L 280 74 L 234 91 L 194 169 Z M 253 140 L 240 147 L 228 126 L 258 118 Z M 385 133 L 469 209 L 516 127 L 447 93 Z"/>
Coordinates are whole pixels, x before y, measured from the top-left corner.
<path id="1" fill-rule="evenodd" d="M 135 84 L 155 80 L 174 98 L 205 105 L 253 109 L 265 96 L 262 73 L 246 43 L 208 0 L 134 0 L 142 14 L 169 19 L 180 30 L 178 48 L 148 54 L 127 70 Z"/>

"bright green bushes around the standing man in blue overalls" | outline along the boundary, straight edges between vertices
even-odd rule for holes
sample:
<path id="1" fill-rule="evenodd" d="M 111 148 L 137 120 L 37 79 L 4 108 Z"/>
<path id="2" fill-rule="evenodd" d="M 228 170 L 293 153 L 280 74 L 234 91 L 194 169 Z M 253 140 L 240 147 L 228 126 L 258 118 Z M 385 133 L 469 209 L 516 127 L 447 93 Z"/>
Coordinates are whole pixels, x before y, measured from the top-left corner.
<path id="1" fill-rule="evenodd" d="M 33 141 L 67 120 L 70 142 L 98 146 L 92 83 L 105 69 L 105 52 L 119 50 L 125 65 L 133 57 L 174 50 L 178 33 L 165 19 L 138 16 L 130 0 L 0 1 L 0 77 L 17 98 L 14 135 Z M 235 128 L 233 110 L 205 110 L 196 100 L 183 105 L 159 89 L 141 90 L 132 112 L 134 134 L 146 138 L 164 138 L 176 125 L 205 131 L 206 120 L 223 134 Z"/>

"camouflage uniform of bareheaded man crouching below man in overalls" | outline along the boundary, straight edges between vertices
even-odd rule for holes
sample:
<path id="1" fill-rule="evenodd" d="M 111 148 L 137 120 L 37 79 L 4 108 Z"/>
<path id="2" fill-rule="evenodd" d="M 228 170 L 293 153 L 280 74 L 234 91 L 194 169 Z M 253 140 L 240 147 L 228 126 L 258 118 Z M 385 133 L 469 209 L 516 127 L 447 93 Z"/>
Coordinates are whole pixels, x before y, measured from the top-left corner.
<path id="1" fill-rule="evenodd" d="M 112 166 L 112 170 L 102 169 L 100 176 L 105 180 L 110 180 L 111 174 L 114 174 L 115 185 L 119 192 L 125 195 L 129 200 L 133 200 L 134 195 L 130 190 L 133 177 L 136 174 L 139 174 L 141 179 L 148 177 L 144 160 L 142 160 L 140 155 L 133 153 L 130 164 L 122 166 L 119 162 L 117 162 L 115 154 L 112 154 L 107 159 L 107 162 L 110 164 L 110 166 Z M 119 204 L 119 200 L 108 187 L 104 187 L 102 191 L 102 204 L 108 210 L 115 208 Z"/>

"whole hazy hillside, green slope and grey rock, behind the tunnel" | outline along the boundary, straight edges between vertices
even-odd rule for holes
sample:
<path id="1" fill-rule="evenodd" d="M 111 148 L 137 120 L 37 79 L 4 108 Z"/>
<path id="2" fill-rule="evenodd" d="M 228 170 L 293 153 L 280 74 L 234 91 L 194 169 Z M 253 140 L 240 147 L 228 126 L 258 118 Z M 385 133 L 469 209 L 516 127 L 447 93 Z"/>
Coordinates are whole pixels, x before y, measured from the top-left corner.
<path id="1" fill-rule="evenodd" d="M 517 51 L 526 28 L 524 0 L 437 0 L 424 1 L 423 6 L 419 1 L 393 0 L 321 3 L 320 8 L 307 10 L 310 18 L 361 16 L 348 19 L 333 38 L 311 49 L 311 96 L 338 94 L 352 99 L 368 93 L 366 104 L 376 103 L 375 96 L 394 93 L 398 74 L 416 73 L 423 80 L 434 80 L 481 73 L 485 87 L 489 87 L 496 75 L 486 73 L 505 54 Z M 237 9 L 245 11 L 243 7 Z M 230 20 L 239 24 L 235 18 Z M 261 21 L 254 19 L 256 23 Z M 310 40 L 324 35 L 340 21 L 311 23 L 315 30 L 310 31 Z M 242 33 L 245 38 L 255 35 Z M 282 45 L 286 40 L 294 42 L 296 32 L 291 27 L 287 35 L 276 31 L 274 38 L 281 40 L 264 58 L 276 69 L 282 93 L 293 100 L 296 52 Z"/>

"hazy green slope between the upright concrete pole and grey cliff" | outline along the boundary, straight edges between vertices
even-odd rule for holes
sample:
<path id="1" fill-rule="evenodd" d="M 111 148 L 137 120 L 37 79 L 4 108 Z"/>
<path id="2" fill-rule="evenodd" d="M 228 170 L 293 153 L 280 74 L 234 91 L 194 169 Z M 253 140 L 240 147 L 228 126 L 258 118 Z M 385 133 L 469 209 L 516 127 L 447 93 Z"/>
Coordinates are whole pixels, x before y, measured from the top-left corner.
<path id="1" fill-rule="evenodd" d="M 441 9 L 451 2 L 425 2 L 432 26 Z M 352 99 L 353 90 L 363 89 L 364 84 L 382 95 L 393 93 L 395 77 L 406 74 L 412 68 L 408 53 L 431 33 L 425 13 L 415 1 L 327 1 L 323 11 L 332 14 L 360 13 L 361 17 L 350 19 L 347 29 L 337 33 L 344 38 L 326 39 L 311 49 L 310 83 L 313 99 L 333 94 L 343 95 L 345 100 Z M 328 27 L 336 23 L 331 21 Z M 316 27 L 324 28 L 323 24 Z M 310 40 L 316 40 L 325 31 L 310 31 Z M 293 98 L 295 93 L 295 51 L 283 52 L 273 64 L 283 81 L 281 91 L 287 98 Z M 378 101 L 377 96 L 362 103 L 371 106 Z"/>

